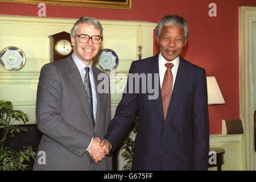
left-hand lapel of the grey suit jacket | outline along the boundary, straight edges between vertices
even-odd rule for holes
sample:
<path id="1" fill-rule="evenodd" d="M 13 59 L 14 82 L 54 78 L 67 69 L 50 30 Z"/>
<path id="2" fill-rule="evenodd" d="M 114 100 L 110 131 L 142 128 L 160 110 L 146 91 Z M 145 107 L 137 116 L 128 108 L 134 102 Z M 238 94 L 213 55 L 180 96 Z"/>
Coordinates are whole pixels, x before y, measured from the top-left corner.
<path id="1" fill-rule="evenodd" d="M 90 107 L 88 102 L 88 97 L 85 92 L 84 84 L 82 84 L 82 78 L 79 73 L 79 70 L 77 69 L 77 66 L 75 62 L 73 61 L 72 57 L 68 57 L 68 68 L 69 68 L 69 79 L 71 80 L 73 86 L 76 89 L 76 92 L 78 96 L 80 97 L 80 100 L 82 102 L 82 106 L 84 107 L 85 113 L 89 119 L 89 121 L 92 123 L 92 116 L 90 114 Z M 92 125 L 91 125 L 92 126 Z M 93 127 L 92 127 L 93 130 Z"/>

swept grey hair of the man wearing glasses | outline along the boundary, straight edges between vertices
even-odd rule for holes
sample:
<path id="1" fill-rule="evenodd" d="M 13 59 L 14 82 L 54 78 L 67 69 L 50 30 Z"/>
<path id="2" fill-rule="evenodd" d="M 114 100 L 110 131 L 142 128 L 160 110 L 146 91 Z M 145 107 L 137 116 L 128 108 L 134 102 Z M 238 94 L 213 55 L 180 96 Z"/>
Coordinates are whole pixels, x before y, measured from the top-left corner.
<path id="1" fill-rule="evenodd" d="M 80 23 L 85 23 L 88 24 L 89 26 L 96 28 L 101 31 L 101 37 L 103 38 L 103 28 L 101 26 L 101 23 L 96 19 L 93 18 L 92 16 L 83 16 L 79 20 L 76 21 L 74 24 L 73 28 L 71 29 L 71 37 L 75 38 L 76 37 L 76 31 Z"/>

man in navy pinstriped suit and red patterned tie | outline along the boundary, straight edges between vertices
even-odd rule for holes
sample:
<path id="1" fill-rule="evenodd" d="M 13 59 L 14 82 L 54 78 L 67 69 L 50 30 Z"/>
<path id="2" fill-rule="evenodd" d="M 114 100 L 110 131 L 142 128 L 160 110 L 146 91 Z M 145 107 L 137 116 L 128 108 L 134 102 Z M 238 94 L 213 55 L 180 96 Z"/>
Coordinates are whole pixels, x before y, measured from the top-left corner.
<path id="1" fill-rule="evenodd" d="M 138 111 L 133 170 L 207 170 L 207 81 L 205 69 L 180 56 L 188 34 L 182 17 L 164 16 L 156 28 L 160 53 L 131 64 L 131 75 L 138 73 L 147 79 L 136 82 L 129 75 L 127 93 L 123 93 L 101 145 L 117 147 Z M 145 82 L 147 92 L 143 93 Z M 150 98 L 149 83 L 159 91 L 156 99 Z"/>

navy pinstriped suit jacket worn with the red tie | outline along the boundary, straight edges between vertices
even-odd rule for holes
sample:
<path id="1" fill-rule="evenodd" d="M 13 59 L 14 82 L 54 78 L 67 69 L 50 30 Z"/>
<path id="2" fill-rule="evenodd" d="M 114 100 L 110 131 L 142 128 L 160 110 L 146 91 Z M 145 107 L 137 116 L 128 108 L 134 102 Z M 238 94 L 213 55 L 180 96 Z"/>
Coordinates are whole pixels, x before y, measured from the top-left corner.
<path id="1" fill-rule="evenodd" d="M 133 61 L 129 73 L 159 73 L 158 55 Z M 154 76 L 152 78 L 154 83 Z M 156 79 L 159 80 L 159 76 Z M 141 86 L 140 81 L 139 88 L 142 91 Z M 148 100 L 148 92 L 123 94 L 106 139 L 115 148 L 138 110 L 133 170 L 206 170 L 209 121 L 205 69 L 180 56 L 165 122 L 160 83 L 156 86 L 159 91 L 156 100 Z"/>

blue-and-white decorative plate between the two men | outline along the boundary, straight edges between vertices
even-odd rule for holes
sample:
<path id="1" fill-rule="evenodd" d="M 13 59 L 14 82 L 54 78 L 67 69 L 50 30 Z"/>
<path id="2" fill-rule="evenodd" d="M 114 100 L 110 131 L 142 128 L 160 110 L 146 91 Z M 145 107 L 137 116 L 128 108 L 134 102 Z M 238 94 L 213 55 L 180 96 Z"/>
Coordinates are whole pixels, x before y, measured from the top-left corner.
<path id="1" fill-rule="evenodd" d="M 117 54 L 112 49 L 102 49 L 97 60 L 103 71 L 114 71 L 119 62 Z"/>

